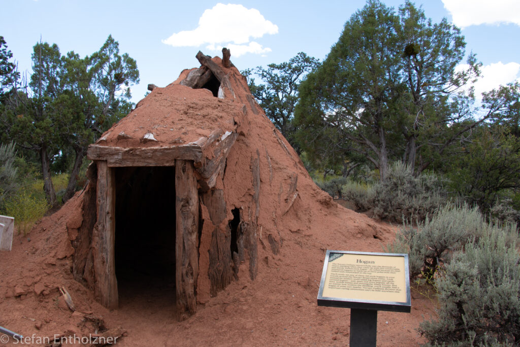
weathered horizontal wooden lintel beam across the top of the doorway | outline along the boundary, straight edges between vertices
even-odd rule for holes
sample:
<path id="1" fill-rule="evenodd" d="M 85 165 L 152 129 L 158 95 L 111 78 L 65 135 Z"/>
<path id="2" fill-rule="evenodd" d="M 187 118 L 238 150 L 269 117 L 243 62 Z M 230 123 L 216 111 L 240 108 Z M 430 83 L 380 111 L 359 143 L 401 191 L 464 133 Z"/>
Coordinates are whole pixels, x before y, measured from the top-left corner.
<path id="1" fill-rule="evenodd" d="M 168 147 L 123 148 L 90 145 L 87 150 L 90 160 L 105 160 L 108 166 L 174 166 L 174 159 L 193 160 L 202 163 L 201 144 Z"/>

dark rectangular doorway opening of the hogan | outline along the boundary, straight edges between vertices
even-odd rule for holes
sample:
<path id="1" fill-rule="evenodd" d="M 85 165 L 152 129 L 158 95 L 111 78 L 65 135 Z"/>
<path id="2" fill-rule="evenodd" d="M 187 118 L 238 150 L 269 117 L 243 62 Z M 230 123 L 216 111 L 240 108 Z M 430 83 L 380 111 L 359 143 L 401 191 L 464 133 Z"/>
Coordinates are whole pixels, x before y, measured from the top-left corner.
<path id="1" fill-rule="evenodd" d="M 115 182 L 120 308 L 175 306 L 175 167 L 116 168 Z"/>

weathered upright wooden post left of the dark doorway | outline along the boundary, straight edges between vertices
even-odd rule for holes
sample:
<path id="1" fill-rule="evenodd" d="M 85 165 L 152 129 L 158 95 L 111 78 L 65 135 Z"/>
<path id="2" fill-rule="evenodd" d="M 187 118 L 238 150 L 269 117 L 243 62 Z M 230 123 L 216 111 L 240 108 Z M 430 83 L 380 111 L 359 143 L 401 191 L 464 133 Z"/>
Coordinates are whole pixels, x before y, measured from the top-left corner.
<path id="1" fill-rule="evenodd" d="M 92 235 L 94 295 L 108 309 L 119 305 L 115 278 L 115 175 L 106 161 L 97 162 L 97 222 Z"/>

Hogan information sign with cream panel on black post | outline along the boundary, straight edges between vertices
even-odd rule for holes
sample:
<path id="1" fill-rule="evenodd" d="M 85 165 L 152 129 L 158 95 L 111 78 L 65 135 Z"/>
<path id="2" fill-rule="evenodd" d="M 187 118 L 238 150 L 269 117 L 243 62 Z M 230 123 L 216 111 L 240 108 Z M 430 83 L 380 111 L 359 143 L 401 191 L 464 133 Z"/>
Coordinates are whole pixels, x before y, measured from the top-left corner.
<path id="1" fill-rule="evenodd" d="M 318 305 L 350 308 L 350 345 L 375 347 L 378 310 L 410 312 L 408 254 L 328 250 Z"/>

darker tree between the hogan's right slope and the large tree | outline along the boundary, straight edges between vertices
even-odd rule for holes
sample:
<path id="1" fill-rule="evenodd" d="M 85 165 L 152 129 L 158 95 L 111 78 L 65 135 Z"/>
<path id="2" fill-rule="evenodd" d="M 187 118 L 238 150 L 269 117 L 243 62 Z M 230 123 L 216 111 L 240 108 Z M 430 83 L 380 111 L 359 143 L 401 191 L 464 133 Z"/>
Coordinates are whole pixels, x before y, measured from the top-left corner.
<path id="1" fill-rule="evenodd" d="M 300 150 L 294 141 L 295 127 L 292 120 L 298 100 L 298 86 L 304 76 L 318 65 L 318 59 L 300 52 L 289 61 L 269 64 L 267 69 L 258 66 L 256 69 L 242 71 L 243 75 L 248 76 L 251 93 L 267 117 L 297 152 Z M 252 74 L 258 75 L 262 83 L 256 85 Z"/>

